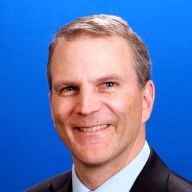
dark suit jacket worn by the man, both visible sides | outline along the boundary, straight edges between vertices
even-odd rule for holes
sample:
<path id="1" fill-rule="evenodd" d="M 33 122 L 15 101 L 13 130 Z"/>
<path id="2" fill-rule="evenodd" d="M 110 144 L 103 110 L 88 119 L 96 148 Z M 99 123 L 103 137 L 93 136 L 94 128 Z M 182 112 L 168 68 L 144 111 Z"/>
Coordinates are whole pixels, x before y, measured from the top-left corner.
<path id="1" fill-rule="evenodd" d="M 55 176 L 26 192 L 72 192 L 71 172 Z M 169 170 L 151 150 L 150 157 L 130 192 L 192 192 L 192 184 Z"/>

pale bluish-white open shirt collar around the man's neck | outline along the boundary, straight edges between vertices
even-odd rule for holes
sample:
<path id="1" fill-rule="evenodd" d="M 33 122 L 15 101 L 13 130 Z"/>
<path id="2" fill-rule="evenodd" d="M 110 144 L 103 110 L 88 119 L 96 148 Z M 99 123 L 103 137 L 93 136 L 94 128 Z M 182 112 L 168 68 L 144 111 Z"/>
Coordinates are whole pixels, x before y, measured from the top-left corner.
<path id="1" fill-rule="evenodd" d="M 130 191 L 136 178 L 143 169 L 145 163 L 147 162 L 150 155 L 150 148 L 145 141 L 140 153 L 133 159 L 126 167 L 120 170 L 116 175 L 111 177 L 100 187 L 98 187 L 94 192 L 127 192 Z M 90 192 L 90 190 L 79 180 L 75 167 L 72 167 L 72 185 L 73 192 Z"/>

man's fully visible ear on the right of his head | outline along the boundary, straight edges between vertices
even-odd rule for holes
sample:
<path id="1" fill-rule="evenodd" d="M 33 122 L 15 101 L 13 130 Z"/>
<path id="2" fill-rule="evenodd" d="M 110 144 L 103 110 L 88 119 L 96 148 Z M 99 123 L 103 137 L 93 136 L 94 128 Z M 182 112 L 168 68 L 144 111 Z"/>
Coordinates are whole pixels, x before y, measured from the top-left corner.
<path id="1" fill-rule="evenodd" d="M 155 87 L 153 81 L 149 80 L 143 88 L 143 111 L 142 122 L 145 123 L 152 112 L 155 99 Z"/>

